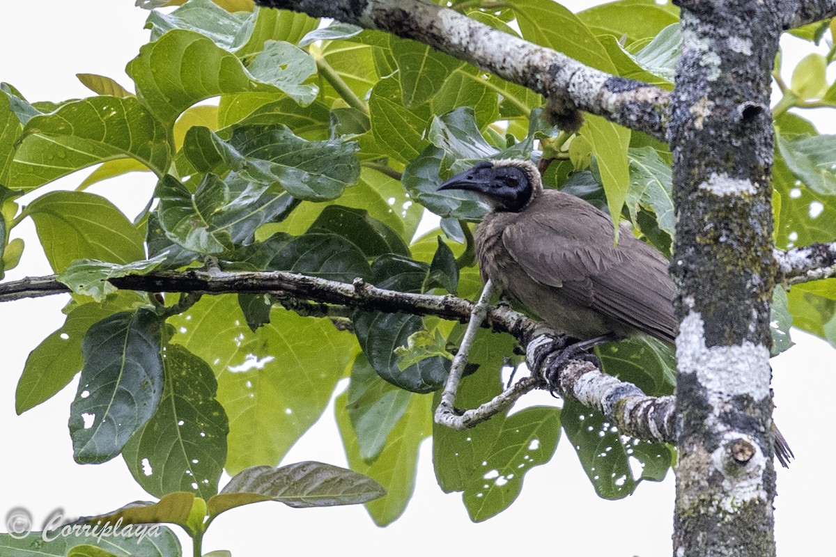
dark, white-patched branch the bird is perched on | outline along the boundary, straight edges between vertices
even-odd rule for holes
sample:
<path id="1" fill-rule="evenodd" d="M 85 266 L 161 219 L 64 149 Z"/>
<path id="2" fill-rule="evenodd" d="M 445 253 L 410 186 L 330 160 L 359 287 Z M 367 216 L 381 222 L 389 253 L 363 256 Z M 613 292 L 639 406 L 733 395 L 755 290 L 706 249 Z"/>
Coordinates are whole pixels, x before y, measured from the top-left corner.
<path id="1" fill-rule="evenodd" d="M 234 294 L 241 292 L 274 294 L 280 299 L 293 296 L 319 304 L 337 304 L 371 311 L 403 312 L 413 315 L 433 315 L 464 322 L 474 311 L 472 301 L 458 296 L 433 296 L 385 290 L 362 279 L 353 284 L 329 281 L 315 276 L 283 271 L 157 271 L 147 275 L 130 275 L 110 279 L 110 283 L 125 290 L 146 292 L 186 292 L 191 294 Z M 56 276 L 29 277 L 21 281 L 0 282 L 0 301 L 25 297 L 49 296 L 69 292 Z M 195 296 L 192 296 L 194 298 Z M 324 307 L 320 313 L 325 314 Z M 482 327 L 497 332 L 508 332 L 523 346 L 536 347 L 548 362 L 552 354 L 561 350 L 559 342 L 552 342 L 561 334 L 522 313 L 502 306 L 489 306 Z M 534 337 L 538 342 L 532 342 Z M 545 365 L 545 364 L 544 364 Z M 490 415 L 507 408 L 526 392 L 544 388 L 543 374 L 532 370 L 532 377 L 524 377 L 513 387 L 502 392 L 490 408 L 465 411 L 456 420 L 459 427 L 468 428 Z M 589 362 L 569 361 L 558 370 L 557 392 L 564 398 L 577 400 L 604 413 L 623 432 L 639 438 L 669 441 L 672 429 L 667 423 L 667 408 L 672 408 L 668 397 L 646 397 L 639 387 L 619 381 L 601 372 Z M 645 423 L 641 423 L 645 420 Z"/>

